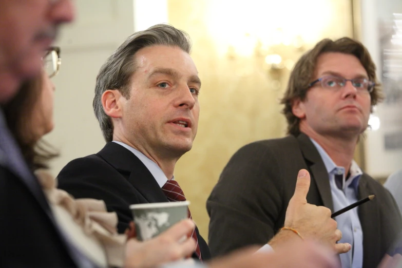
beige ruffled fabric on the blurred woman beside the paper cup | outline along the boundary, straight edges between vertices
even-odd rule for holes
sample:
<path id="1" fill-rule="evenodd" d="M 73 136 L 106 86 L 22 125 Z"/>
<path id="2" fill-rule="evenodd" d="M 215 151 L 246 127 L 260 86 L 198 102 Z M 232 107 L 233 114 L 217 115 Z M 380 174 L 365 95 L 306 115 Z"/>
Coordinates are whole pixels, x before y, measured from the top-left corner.
<path id="1" fill-rule="evenodd" d="M 123 266 L 127 237 L 117 233 L 117 214 L 107 212 L 103 200 L 74 199 L 64 190 L 56 188 L 57 179 L 53 179 L 46 170 L 37 170 L 35 175 L 56 221 L 69 235 L 71 242 L 84 253 L 86 251 L 86 255 L 99 265 Z"/>

